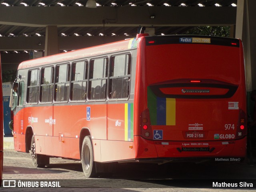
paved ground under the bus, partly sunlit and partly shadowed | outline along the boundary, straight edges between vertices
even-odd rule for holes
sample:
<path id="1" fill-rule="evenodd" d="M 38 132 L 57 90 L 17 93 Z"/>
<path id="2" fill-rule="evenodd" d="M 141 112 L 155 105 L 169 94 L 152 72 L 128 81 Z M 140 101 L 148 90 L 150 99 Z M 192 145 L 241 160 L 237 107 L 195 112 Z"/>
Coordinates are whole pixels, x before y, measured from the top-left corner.
<path id="1" fill-rule="evenodd" d="M 221 180 L 220 180 L 221 179 Z M 245 180 L 247 179 L 247 180 Z M 154 164 L 118 164 L 112 176 L 85 178 L 79 161 L 50 158 L 50 165 L 34 168 L 30 154 L 4 150 L 3 180 L 20 180 L 23 184 L 41 181 L 59 182 L 61 188 L 36 188 L 37 191 L 86 192 L 233 192 L 212 188 L 212 182 L 253 182 L 254 188 L 237 188 L 236 192 L 256 190 L 256 166 L 244 163 L 203 162 Z M 36 183 L 34 183 L 36 184 Z M 0 188 L 0 191 L 34 192 L 35 188 Z"/>

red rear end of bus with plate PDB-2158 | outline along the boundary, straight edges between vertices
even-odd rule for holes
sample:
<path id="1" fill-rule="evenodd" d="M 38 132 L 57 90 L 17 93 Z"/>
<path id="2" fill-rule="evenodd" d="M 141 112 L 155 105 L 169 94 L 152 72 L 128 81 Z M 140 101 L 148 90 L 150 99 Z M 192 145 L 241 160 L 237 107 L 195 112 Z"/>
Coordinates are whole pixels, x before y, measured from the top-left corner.
<path id="1" fill-rule="evenodd" d="M 142 56 L 137 65 L 139 75 L 134 99 L 139 105 L 135 113 L 138 117 L 148 107 L 151 124 L 149 137 L 143 129 L 137 130 L 136 135 L 143 138 L 134 139 L 138 143 L 136 158 L 244 157 L 246 132 L 243 138 L 237 138 L 240 118 L 246 122 L 242 42 L 239 41 L 239 47 L 232 47 L 146 46 L 146 38 L 140 41 L 138 54 Z M 231 95 L 233 87 L 236 91 Z M 136 125 L 140 127 L 141 122 L 136 121 Z M 246 123 L 243 125 L 246 127 Z M 161 139 L 152 136 L 155 131 L 162 134 Z"/>

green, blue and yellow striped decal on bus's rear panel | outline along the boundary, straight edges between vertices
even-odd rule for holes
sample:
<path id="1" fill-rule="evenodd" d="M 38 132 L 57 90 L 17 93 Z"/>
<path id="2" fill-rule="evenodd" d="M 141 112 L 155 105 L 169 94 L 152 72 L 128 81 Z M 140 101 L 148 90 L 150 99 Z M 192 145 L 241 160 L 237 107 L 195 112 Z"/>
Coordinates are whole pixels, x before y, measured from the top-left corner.
<path id="1" fill-rule="evenodd" d="M 176 124 L 176 99 L 157 97 L 148 87 L 148 109 L 151 125 Z"/>

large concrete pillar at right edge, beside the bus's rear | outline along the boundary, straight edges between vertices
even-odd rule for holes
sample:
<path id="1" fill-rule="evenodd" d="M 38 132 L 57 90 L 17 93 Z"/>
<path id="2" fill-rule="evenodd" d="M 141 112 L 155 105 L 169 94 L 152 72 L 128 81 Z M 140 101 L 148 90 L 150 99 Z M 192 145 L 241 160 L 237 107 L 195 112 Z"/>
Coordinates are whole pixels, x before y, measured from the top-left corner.
<path id="1" fill-rule="evenodd" d="M 243 42 L 247 92 L 256 89 L 256 0 L 238 0 L 236 38 Z"/>

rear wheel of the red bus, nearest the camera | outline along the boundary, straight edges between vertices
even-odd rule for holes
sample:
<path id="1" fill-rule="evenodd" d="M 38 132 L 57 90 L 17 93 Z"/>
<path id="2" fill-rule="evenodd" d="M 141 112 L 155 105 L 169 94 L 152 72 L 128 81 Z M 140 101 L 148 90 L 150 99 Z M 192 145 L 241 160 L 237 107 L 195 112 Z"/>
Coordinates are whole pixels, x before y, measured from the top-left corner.
<path id="1" fill-rule="evenodd" d="M 87 178 L 96 176 L 96 165 L 93 160 L 93 149 L 90 136 L 84 137 L 82 144 L 82 167 L 84 175 Z"/>

